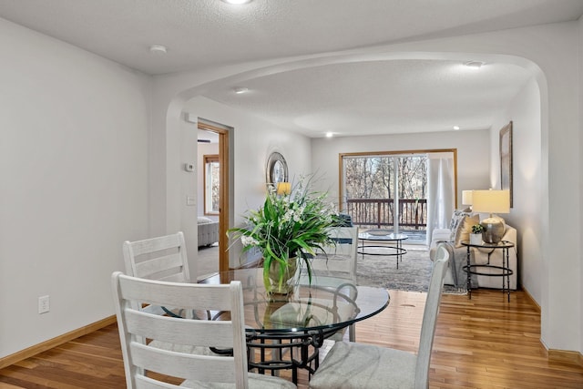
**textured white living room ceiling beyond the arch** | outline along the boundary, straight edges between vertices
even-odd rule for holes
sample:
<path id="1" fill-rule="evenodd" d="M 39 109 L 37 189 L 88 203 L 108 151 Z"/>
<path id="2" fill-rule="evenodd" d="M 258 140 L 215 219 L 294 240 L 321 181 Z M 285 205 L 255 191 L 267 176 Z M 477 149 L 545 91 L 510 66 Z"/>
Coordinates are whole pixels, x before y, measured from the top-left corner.
<path id="1" fill-rule="evenodd" d="M 247 94 L 224 88 L 206 96 L 313 137 L 484 129 L 528 77 L 512 65 L 373 61 L 255 78 L 244 83 Z"/>

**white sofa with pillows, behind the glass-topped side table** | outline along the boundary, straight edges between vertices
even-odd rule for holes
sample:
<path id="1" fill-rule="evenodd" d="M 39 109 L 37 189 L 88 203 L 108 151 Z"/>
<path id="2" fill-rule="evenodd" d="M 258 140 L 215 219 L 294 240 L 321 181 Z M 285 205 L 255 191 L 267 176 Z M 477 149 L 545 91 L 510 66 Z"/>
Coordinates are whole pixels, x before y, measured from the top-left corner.
<path id="1" fill-rule="evenodd" d="M 445 248 L 450 251 L 450 262 L 445 272 L 444 283 L 454 285 L 457 288 L 464 289 L 467 285 L 467 274 L 462 270 L 462 266 L 467 261 L 467 247 L 461 244 L 461 241 L 469 241 L 469 234 L 472 226 L 479 223 L 479 215 L 469 210 L 455 210 L 452 215 L 448 229 L 437 229 L 433 231 L 429 257 L 435 261 L 437 245 L 445 242 Z M 505 223 L 503 241 L 514 243 L 515 247 L 508 249 L 508 267 L 513 271 L 510 276 L 510 289 L 517 289 L 518 266 L 517 266 L 517 230 Z M 484 264 L 488 262 L 496 266 L 502 266 L 501 249 L 482 249 L 470 248 L 470 261 L 472 264 Z M 483 273 L 497 273 L 496 269 L 480 268 Z M 502 277 L 490 277 L 486 275 L 473 275 L 472 288 L 493 288 L 502 289 Z"/>

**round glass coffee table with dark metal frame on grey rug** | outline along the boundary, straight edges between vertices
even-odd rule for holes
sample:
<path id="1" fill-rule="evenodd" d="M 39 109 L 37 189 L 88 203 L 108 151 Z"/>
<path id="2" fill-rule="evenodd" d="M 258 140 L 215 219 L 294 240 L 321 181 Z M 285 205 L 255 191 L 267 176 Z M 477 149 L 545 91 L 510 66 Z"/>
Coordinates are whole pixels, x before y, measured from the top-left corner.
<path id="1" fill-rule="evenodd" d="M 367 230 L 359 233 L 358 239 L 363 241 L 363 244 L 358 246 L 358 253 L 363 254 L 363 258 L 364 255 L 395 257 L 397 269 L 399 269 L 399 262 L 403 261 L 403 255 L 407 253 L 407 250 L 403 248 L 403 241 L 407 239 L 407 236 L 402 233 L 395 234 L 391 230 Z M 365 244 L 366 242 L 373 242 L 373 244 Z M 385 244 L 374 244 L 381 242 Z"/>

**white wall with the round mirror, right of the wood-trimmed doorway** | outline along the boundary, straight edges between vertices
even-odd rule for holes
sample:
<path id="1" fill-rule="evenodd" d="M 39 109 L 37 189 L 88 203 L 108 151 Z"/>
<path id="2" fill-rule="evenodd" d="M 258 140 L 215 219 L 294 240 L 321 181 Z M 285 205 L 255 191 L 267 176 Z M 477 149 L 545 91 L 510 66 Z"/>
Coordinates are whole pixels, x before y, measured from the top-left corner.
<path id="1" fill-rule="evenodd" d="M 309 173 L 312 167 L 310 139 L 276 128 L 246 112 L 233 109 L 205 97 L 194 97 L 184 105 L 184 111 L 233 128 L 234 150 L 231 190 L 234 224 L 240 224 L 247 210 L 257 209 L 265 200 L 266 166 L 271 152 L 279 151 L 288 163 L 290 179 Z M 201 200 L 201 198 L 200 198 Z M 230 266 L 239 266 L 237 247 L 230 254 Z"/>

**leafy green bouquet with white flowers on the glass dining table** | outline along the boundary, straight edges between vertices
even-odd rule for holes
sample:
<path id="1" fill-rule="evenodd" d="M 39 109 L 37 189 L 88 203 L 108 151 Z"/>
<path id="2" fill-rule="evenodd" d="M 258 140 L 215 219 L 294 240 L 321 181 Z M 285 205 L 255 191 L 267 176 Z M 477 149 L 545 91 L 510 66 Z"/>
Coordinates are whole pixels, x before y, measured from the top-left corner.
<path id="1" fill-rule="evenodd" d="M 316 249 L 330 246 L 335 242 L 329 230 L 337 226 L 340 219 L 331 203 L 326 202 L 327 193 L 314 192 L 312 179 L 304 183 L 301 179 L 292 185 L 289 194 L 278 195 L 275 188 L 269 188 L 263 206 L 250 210 L 245 217 L 247 226 L 233 228 L 228 232 L 235 241 L 240 239 L 243 252 L 258 247 L 263 253 L 263 282 L 271 292 L 270 269 L 279 263 L 279 288 L 285 281 L 290 267 L 289 259 L 297 257 L 306 265 L 312 281 L 310 257 Z"/>

